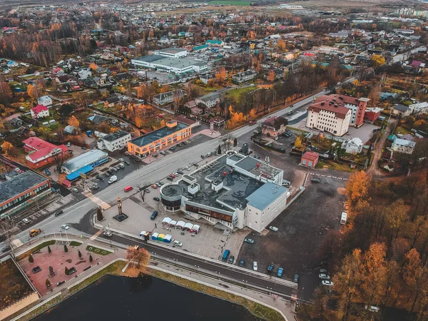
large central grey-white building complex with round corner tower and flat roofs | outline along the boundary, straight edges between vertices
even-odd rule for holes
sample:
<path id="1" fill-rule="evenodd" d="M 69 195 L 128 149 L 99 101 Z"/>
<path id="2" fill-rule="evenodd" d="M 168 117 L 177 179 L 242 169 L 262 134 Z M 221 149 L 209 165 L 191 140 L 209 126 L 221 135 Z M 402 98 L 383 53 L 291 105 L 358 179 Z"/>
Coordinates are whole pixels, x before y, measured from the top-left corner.
<path id="1" fill-rule="evenodd" d="M 165 211 L 183 211 L 222 230 L 257 232 L 280 215 L 290 196 L 283 171 L 250 156 L 223 155 L 161 188 Z"/>

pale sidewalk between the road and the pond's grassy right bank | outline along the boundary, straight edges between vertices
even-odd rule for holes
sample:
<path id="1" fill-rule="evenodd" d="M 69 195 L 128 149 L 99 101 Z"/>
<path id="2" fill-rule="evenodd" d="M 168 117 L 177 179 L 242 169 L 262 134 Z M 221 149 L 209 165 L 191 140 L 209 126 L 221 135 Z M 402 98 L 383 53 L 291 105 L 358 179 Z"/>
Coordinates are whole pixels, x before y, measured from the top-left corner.
<path id="1" fill-rule="evenodd" d="M 156 265 L 155 265 L 156 264 Z M 193 282 L 203 283 L 205 285 L 210 285 L 212 287 L 218 288 L 219 290 L 223 290 L 226 292 L 234 292 L 236 295 L 243 295 L 245 297 L 250 297 L 251 299 L 262 302 L 265 305 L 270 307 L 276 307 L 277 310 L 280 310 L 282 314 L 285 316 L 286 321 L 293 321 L 293 314 L 295 310 L 295 302 L 291 302 L 288 300 L 284 300 L 280 297 L 274 298 L 270 295 L 265 295 L 260 292 L 255 292 L 253 290 L 248 290 L 243 287 L 239 287 L 237 285 L 232 285 L 230 283 L 226 283 L 224 281 L 218 281 L 211 277 L 207 277 L 205 275 L 195 274 L 194 272 L 190 272 L 188 270 L 183 270 L 182 268 L 178 268 L 175 266 L 171 266 L 165 263 L 156 262 L 149 265 L 154 270 L 161 270 L 163 272 L 169 272 L 173 275 L 178 275 L 180 277 L 184 277 Z M 226 287 L 227 285 L 227 287 Z"/>

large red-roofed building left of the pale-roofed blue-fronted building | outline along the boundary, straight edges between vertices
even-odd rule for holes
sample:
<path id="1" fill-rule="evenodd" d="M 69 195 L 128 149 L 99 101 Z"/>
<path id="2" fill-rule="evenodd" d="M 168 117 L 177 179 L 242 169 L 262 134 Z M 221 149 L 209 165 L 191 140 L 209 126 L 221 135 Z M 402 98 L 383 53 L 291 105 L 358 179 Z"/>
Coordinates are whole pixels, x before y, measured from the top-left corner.
<path id="1" fill-rule="evenodd" d="M 58 157 L 68 157 L 68 148 L 65 145 L 56 146 L 39 137 L 27 138 L 24 150 L 28 153 L 26 164 L 31 168 L 41 168 L 55 162 Z"/>

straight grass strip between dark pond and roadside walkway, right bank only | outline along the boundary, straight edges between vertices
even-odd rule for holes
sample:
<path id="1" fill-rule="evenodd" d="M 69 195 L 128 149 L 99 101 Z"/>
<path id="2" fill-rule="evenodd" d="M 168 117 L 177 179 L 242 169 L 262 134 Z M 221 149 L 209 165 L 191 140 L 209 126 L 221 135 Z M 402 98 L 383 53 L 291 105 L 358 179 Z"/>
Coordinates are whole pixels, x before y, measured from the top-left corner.
<path id="1" fill-rule="evenodd" d="M 202 292 L 208 295 L 212 295 L 213 297 L 218 297 L 220 299 L 233 302 L 238 305 L 242 305 L 243 307 L 247 308 L 251 313 L 253 313 L 253 315 L 255 315 L 256 317 L 260 317 L 261 319 L 271 321 L 284 320 L 282 315 L 280 315 L 280 313 L 278 313 L 277 311 L 272 310 L 270 307 L 266 307 L 265 305 L 260 305 L 259 303 L 254 302 L 252 300 L 248 300 L 245 297 L 233 295 L 229 292 L 218 290 L 213 287 L 202 285 L 198 282 L 193 282 L 182 277 L 170 275 L 169 273 L 161 272 L 158 270 L 148 269 L 148 273 L 150 275 L 153 275 L 154 277 L 158 277 L 168 282 L 173 282 L 183 287 L 187 287 L 190 290 Z"/>

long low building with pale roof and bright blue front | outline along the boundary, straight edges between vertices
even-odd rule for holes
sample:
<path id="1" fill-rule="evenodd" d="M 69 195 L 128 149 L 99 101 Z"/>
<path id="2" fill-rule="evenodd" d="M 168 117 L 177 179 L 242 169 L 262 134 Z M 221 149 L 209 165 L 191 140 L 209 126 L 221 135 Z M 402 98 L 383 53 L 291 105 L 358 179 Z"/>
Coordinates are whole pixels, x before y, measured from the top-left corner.
<path id="1" fill-rule="evenodd" d="M 81 175 L 89 173 L 94 167 L 108 161 L 107 153 L 99 149 L 93 149 L 75 158 L 71 158 L 62 165 L 63 173 L 68 174 L 67 180 L 73 181 Z"/>

